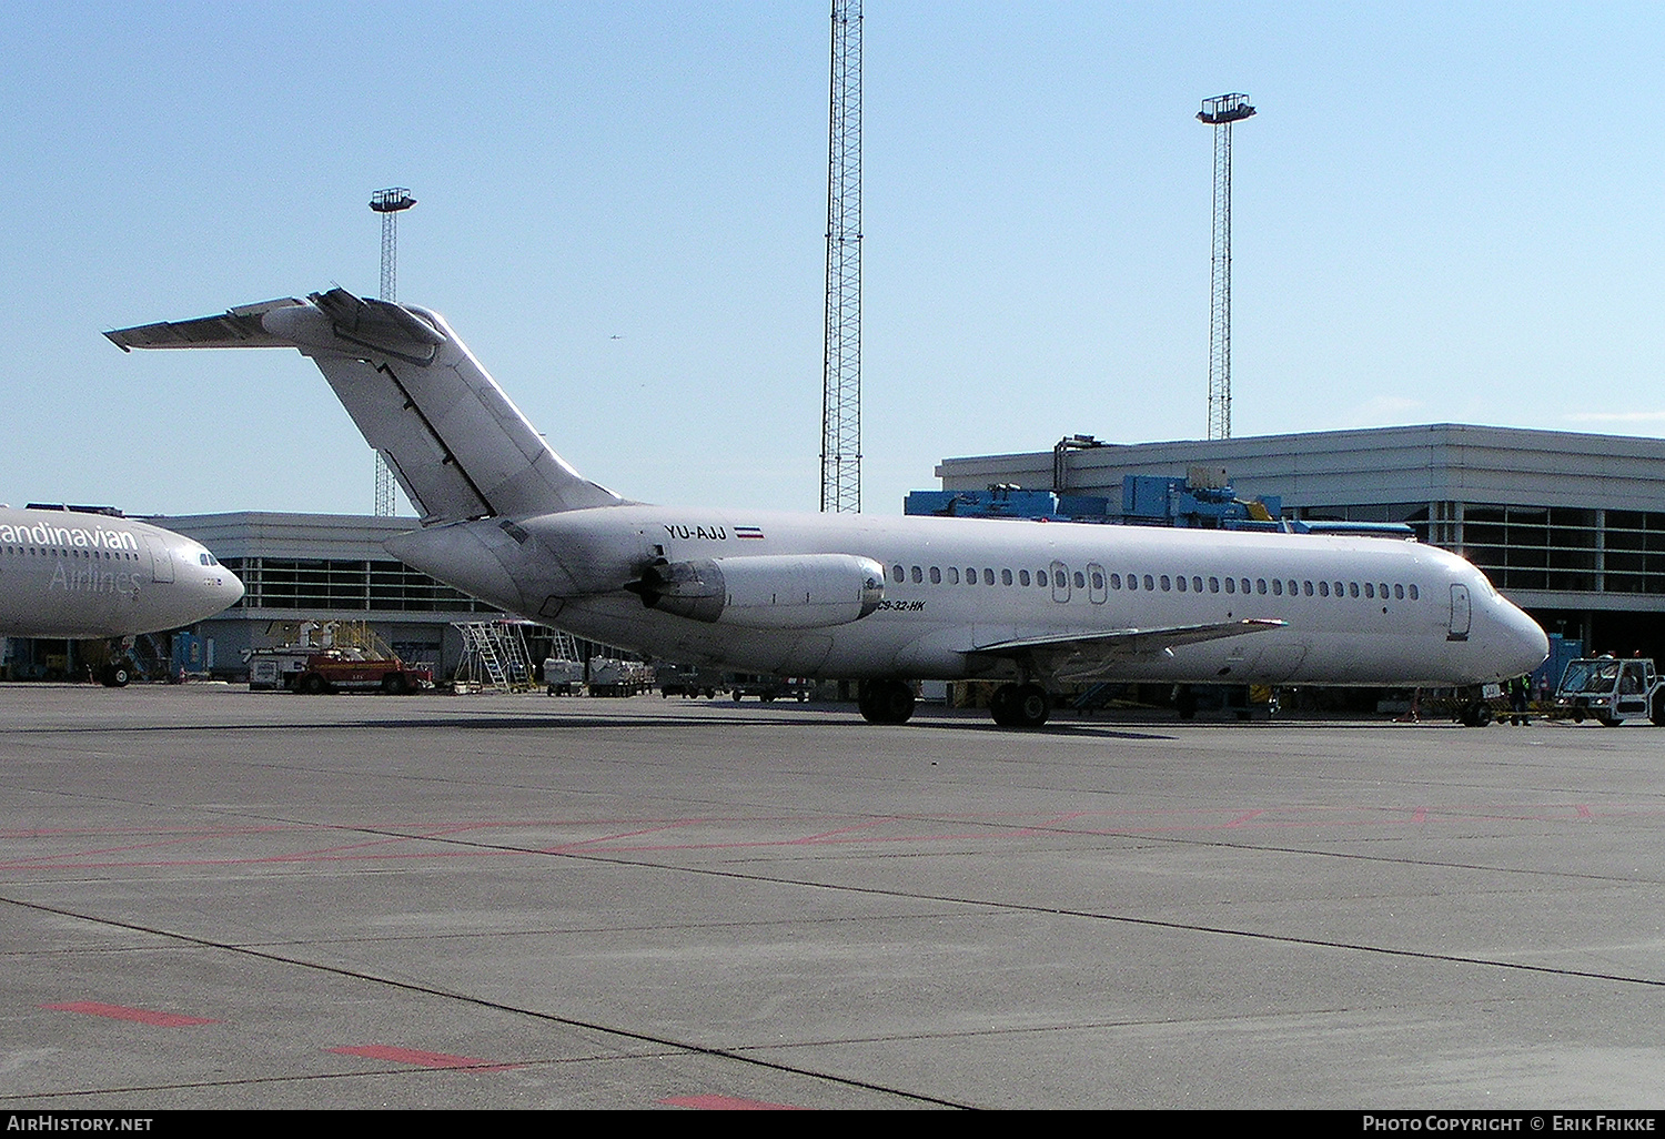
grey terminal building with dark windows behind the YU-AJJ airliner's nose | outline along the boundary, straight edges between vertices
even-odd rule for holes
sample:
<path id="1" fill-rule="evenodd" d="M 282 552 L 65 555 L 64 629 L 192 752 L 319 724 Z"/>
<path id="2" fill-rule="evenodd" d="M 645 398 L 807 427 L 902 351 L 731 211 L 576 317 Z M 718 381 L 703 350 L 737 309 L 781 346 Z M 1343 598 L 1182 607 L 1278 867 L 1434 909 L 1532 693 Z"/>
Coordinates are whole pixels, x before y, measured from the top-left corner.
<path id="1" fill-rule="evenodd" d="M 1665 658 L 1665 440 L 1429 423 L 944 460 L 942 490 L 1107 495 L 1224 468 L 1285 518 L 1409 523 L 1548 633 Z"/>

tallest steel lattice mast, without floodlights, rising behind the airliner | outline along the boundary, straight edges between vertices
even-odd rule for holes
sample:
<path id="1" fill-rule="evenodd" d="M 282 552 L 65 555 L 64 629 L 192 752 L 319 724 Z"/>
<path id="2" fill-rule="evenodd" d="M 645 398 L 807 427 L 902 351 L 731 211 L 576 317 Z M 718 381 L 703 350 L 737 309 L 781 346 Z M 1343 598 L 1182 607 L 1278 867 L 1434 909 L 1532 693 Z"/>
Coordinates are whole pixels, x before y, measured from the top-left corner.
<path id="1" fill-rule="evenodd" d="M 861 510 L 861 0 L 832 0 L 821 510 Z"/>

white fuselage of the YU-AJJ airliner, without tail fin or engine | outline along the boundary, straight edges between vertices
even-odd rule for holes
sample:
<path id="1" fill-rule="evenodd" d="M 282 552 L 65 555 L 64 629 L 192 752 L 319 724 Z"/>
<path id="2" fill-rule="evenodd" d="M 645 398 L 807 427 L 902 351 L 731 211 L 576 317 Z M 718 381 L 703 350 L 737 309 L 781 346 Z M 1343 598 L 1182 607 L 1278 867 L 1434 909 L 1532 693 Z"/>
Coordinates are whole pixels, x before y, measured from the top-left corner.
<path id="1" fill-rule="evenodd" d="M 435 526 L 405 561 L 504 609 L 653 656 L 834 678 L 1017 676 L 986 646 L 1240 619 L 1282 628 L 1112 653 L 1076 678 L 1459 684 L 1518 676 L 1543 633 L 1472 565 L 1385 538 L 608 506 Z M 654 561 L 859 555 L 882 601 L 824 628 L 748 629 L 626 591 Z M 1069 666 L 1062 669 L 1069 673 Z"/>

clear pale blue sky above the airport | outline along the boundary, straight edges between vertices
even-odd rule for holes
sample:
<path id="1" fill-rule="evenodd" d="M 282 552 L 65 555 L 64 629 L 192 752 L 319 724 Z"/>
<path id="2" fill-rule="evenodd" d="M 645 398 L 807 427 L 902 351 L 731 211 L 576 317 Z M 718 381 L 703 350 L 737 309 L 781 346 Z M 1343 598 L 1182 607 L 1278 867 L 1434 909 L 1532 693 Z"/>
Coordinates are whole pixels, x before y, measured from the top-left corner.
<path id="1" fill-rule="evenodd" d="M 581 471 L 814 510 L 828 10 L 20 5 L 0 500 L 365 513 L 291 351 L 105 328 L 340 283 L 443 311 Z M 864 20 L 864 506 L 1205 426 L 1210 132 L 1247 92 L 1234 433 L 1665 431 L 1660 5 L 902 3 Z"/>

